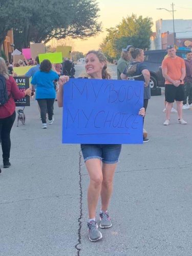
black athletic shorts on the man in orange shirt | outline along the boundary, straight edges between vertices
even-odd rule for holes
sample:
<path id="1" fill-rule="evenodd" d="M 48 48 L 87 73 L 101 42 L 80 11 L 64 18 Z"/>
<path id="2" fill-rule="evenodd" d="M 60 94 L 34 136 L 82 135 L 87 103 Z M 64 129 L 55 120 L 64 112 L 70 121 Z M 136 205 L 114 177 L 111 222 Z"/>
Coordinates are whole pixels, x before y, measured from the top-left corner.
<path id="1" fill-rule="evenodd" d="M 185 99 L 184 85 L 176 87 L 174 84 L 165 84 L 165 100 L 169 103 Z"/>

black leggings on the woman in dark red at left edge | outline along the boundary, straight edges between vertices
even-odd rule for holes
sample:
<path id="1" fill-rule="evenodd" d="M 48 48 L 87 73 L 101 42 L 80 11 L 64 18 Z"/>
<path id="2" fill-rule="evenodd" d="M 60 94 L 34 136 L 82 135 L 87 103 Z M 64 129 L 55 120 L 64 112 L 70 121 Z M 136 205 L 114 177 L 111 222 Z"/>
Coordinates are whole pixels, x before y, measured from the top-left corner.
<path id="1" fill-rule="evenodd" d="M 6 118 L 0 118 L 0 138 L 2 141 L 3 162 L 8 162 L 10 158 L 10 132 L 15 121 L 15 116 L 16 114 L 14 111 L 14 113 L 11 116 Z"/>

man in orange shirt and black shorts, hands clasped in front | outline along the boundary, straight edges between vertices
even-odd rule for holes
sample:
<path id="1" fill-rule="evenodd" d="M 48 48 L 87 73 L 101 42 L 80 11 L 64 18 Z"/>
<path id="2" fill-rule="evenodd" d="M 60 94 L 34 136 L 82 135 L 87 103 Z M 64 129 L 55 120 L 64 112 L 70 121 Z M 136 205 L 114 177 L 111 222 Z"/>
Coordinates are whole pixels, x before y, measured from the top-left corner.
<path id="1" fill-rule="evenodd" d="M 164 125 L 170 123 L 170 111 L 172 103 L 176 100 L 178 123 L 187 124 L 182 118 L 182 105 L 185 98 L 184 94 L 184 78 L 185 78 L 185 62 L 176 55 L 174 46 L 167 47 L 168 57 L 163 59 L 162 73 L 165 78 L 165 100 L 166 100 L 166 119 Z"/>

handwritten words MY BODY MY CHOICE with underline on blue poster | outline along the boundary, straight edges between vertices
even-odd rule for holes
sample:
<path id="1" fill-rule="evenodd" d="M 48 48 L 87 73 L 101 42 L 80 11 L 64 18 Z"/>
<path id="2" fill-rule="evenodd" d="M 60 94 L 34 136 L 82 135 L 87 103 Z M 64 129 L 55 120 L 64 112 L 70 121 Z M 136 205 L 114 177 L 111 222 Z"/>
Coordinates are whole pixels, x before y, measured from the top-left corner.
<path id="1" fill-rule="evenodd" d="M 70 90 L 65 87 L 66 129 L 137 129 L 143 82 L 78 80 L 71 81 Z"/>

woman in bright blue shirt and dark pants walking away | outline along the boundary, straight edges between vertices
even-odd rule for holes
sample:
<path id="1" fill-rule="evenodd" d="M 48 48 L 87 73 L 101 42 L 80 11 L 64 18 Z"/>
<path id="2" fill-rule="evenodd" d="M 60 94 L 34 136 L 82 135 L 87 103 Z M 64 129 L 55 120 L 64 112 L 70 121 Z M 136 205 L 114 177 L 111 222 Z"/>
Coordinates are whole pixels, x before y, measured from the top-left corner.
<path id="1" fill-rule="evenodd" d="M 34 87 L 36 84 L 36 100 L 40 108 L 40 116 L 42 128 L 47 128 L 46 113 L 48 111 L 49 124 L 52 124 L 53 119 L 53 104 L 55 101 L 55 89 L 53 81 L 58 80 L 59 76 L 51 70 L 52 65 L 48 59 L 40 63 L 40 70 L 37 71 L 31 84 Z"/>

